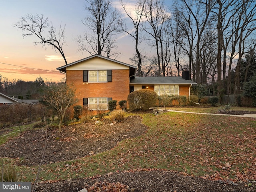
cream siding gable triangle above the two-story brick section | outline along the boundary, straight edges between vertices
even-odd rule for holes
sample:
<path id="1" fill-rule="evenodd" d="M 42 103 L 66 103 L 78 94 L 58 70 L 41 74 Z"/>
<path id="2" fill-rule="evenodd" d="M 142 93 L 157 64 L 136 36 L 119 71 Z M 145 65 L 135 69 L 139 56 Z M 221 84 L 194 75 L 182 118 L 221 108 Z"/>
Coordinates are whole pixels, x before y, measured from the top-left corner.
<path id="1" fill-rule="evenodd" d="M 66 67 L 66 70 L 122 70 L 129 69 L 129 66 L 125 66 L 116 62 L 105 60 L 102 58 L 91 58 L 89 60 L 82 61 L 75 65 Z"/>

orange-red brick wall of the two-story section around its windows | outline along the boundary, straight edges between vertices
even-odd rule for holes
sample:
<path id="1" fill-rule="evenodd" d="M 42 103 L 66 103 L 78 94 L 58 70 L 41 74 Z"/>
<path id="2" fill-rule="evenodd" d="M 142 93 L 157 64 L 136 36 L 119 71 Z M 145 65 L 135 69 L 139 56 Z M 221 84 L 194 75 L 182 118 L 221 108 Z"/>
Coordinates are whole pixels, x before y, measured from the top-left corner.
<path id="1" fill-rule="evenodd" d="M 129 70 L 112 70 L 112 82 L 84 83 L 83 71 L 66 71 L 67 85 L 76 87 L 76 98 L 79 102 L 75 105 L 83 105 L 83 98 L 108 97 L 112 100 L 127 100 L 130 93 Z"/>

